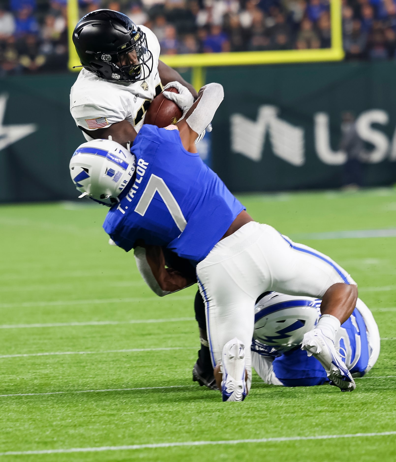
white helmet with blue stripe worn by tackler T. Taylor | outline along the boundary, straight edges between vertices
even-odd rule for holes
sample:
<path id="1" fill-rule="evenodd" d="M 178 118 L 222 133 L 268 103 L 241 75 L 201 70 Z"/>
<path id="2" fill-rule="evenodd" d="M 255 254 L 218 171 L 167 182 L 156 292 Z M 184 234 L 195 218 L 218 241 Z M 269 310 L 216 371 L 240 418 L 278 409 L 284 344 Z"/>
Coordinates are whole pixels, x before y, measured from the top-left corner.
<path id="1" fill-rule="evenodd" d="M 80 145 L 69 164 L 76 188 L 95 201 L 111 207 L 132 179 L 136 158 L 112 140 L 92 140 Z"/>

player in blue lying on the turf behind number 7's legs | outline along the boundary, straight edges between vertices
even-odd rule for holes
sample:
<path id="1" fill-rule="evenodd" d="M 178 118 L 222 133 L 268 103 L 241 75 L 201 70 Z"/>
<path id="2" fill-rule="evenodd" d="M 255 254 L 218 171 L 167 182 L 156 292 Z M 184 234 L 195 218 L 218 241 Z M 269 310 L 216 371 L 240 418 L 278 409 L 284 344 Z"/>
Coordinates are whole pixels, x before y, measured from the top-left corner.
<path id="1" fill-rule="evenodd" d="M 321 300 L 265 292 L 256 303 L 252 365 L 265 383 L 285 387 L 328 383 L 316 358 L 301 349 L 304 334 L 320 318 Z M 380 351 L 377 323 L 358 298 L 352 315 L 338 329 L 335 348 L 352 377 L 363 377 L 376 363 Z"/>

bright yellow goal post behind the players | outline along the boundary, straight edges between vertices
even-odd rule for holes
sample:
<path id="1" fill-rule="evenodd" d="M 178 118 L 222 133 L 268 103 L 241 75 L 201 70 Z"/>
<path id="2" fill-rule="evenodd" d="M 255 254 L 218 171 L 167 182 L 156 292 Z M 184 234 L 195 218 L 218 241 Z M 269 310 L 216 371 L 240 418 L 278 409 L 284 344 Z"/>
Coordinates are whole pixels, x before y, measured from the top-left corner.
<path id="1" fill-rule="evenodd" d="M 79 71 L 79 58 L 72 41 L 72 33 L 79 21 L 78 0 L 67 0 L 67 23 L 69 36 L 69 69 Z M 302 63 L 341 61 L 342 48 L 341 0 L 330 0 L 331 47 L 323 49 L 280 51 L 237 51 L 230 53 L 197 53 L 191 55 L 161 55 L 160 60 L 171 67 L 191 67 L 192 84 L 198 90 L 204 85 L 205 67 L 248 66 L 257 64 Z"/>

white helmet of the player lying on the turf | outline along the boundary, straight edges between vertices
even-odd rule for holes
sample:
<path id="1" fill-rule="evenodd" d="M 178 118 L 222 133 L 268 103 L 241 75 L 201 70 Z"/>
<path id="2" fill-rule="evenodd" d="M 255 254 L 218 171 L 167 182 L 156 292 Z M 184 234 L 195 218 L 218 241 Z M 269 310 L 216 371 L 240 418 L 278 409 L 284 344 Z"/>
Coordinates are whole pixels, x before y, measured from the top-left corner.
<path id="1" fill-rule="evenodd" d="M 304 334 L 319 320 L 322 300 L 269 292 L 255 306 L 252 350 L 280 356 L 301 344 Z"/>

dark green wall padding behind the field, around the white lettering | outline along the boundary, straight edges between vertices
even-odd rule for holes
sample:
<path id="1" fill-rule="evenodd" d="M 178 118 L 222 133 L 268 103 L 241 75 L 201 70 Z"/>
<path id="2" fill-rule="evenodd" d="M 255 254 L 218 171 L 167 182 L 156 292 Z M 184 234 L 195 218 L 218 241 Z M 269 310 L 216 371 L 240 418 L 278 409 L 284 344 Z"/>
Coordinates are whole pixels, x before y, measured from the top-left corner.
<path id="1" fill-rule="evenodd" d="M 1 202 L 77 197 L 68 163 L 85 139 L 69 113 L 69 92 L 75 79 L 76 74 L 0 79 L 0 94 L 9 95 L 3 125 L 38 125 L 35 133 L 0 151 Z M 393 61 L 208 68 L 206 81 L 219 82 L 225 89 L 225 99 L 213 120 L 212 166 L 233 192 L 341 186 L 343 166 L 324 164 L 315 151 L 313 116 L 317 112 L 329 115 L 333 150 L 340 141 L 341 113 L 345 110 L 359 115 L 368 109 L 382 109 L 388 113 L 389 122 L 374 124 L 373 128 L 390 141 L 395 131 Z M 231 151 L 230 116 L 239 113 L 256 121 L 262 105 L 276 106 L 280 119 L 304 129 L 302 166 L 276 157 L 268 134 L 259 162 Z M 372 146 L 366 148 L 370 151 Z M 396 162 L 364 165 L 364 185 L 395 181 Z"/>

